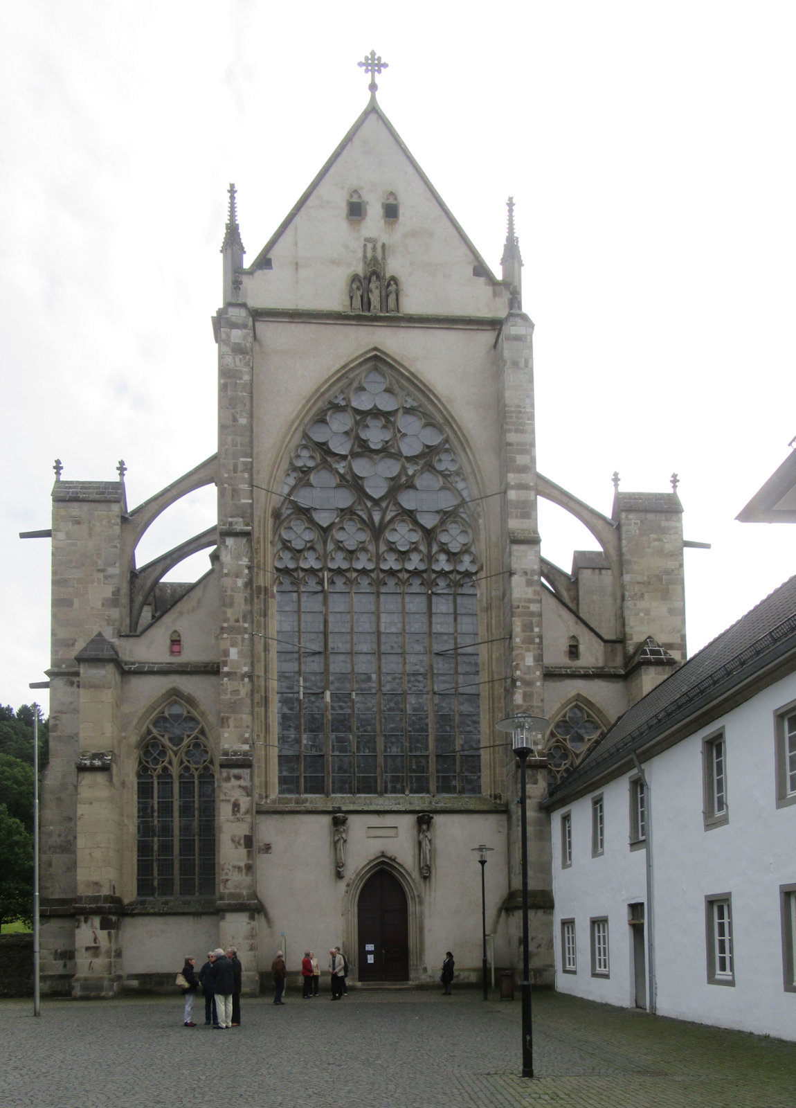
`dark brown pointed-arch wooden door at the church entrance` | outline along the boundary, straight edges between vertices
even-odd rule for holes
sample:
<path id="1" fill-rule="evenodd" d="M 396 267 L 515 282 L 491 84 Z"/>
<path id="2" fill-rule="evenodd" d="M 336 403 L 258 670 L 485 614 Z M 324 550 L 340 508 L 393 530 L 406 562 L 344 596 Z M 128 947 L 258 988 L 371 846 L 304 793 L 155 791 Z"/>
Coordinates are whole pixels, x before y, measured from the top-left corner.
<path id="1" fill-rule="evenodd" d="M 356 905 L 360 981 L 409 981 L 409 911 L 401 882 L 376 870 Z"/>

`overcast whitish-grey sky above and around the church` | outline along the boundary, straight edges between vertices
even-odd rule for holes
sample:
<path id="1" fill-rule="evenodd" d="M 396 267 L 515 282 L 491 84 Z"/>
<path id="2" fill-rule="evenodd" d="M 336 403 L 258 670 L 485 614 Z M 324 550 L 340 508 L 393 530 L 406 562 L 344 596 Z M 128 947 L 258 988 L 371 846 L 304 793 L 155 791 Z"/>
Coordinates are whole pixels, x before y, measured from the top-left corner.
<path id="1" fill-rule="evenodd" d="M 364 107 L 371 49 L 494 268 L 515 197 L 541 472 L 606 514 L 614 470 L 680 474 L 713 544 L 685 552 L 692 653 L 781 584 L 796 529 L 734 516 L 796 435 L 795 31 L 761 0 L 6 4 L 0 702 L 49 664 L 50 543 L 17 534 L 50 524 L 53 459 L 124 458 L 134 506 L 215 451 L 227 185 L 251 260 Z M 187 497 L 139 563 L 213 519 Z M 552 507 L 541 529 L 565 568 L 595 545 Z"/>

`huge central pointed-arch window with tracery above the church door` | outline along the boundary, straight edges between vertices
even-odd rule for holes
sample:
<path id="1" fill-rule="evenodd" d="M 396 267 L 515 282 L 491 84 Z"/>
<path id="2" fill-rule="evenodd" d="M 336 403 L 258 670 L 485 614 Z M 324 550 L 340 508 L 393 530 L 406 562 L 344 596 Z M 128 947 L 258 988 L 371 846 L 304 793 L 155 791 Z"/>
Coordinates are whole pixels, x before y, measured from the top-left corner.
<path id="1" fill-rule="evenodd" d="M 469 491 L 371 368 L 310 420 L 277 516 L 279 792 L 480 792 Z"/>

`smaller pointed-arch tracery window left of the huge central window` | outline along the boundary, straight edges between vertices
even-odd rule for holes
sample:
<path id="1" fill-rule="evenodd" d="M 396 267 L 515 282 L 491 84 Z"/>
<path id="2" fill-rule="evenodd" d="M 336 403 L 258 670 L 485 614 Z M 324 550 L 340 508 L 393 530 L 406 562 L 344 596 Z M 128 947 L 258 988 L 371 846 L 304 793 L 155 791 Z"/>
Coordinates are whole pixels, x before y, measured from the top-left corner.
<path id="1" fill-rule="evenodd" d="M 146 728 L 138 756 L 138 896 L 216 892 L 216 778 L 207 737 L 180 700 Z"/>

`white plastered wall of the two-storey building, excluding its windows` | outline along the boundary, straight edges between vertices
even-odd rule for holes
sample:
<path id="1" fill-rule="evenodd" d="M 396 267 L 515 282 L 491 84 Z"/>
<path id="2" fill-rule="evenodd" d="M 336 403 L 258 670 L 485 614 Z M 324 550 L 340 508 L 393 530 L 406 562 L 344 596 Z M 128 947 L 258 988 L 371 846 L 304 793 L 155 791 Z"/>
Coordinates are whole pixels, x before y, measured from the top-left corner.
<path id="1" fill-rule="evenodd" d="M 796 994 L 783 987 L 779 885 L 796 883 L 796 806 L 775 803 L 774 712 L 796 698 L 792 675 L 644 763 L 653 834 L 658 1012 L 738 1030 L 796 1037 Z M 702 742 L 723 728 L 728 822 L 705 830 Z M 551 812 L 557 988 L 632 1005 L 628 904 L 645 902 L 644 851 L 629 841 L 624 774 Z M 606 850 L 591 858 L 591 799 L 603 793 Z M 561 868 L 571 811 L 572 865 Z M 705 896 L 732 895 L 735 984 L 707 983 Z M 589 919 L 607 915 L 610 978 L 590 975 Z M 561 972 L 561 919 L 575 917 L 577 975 Z"/>

